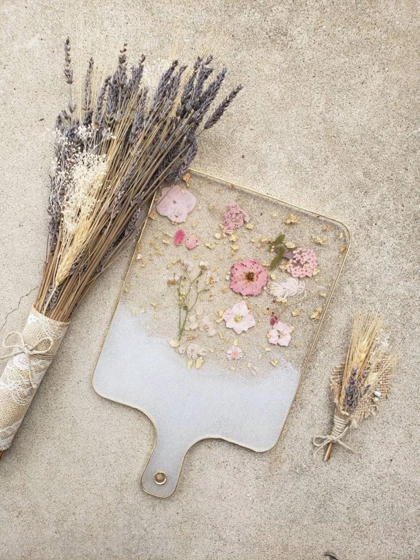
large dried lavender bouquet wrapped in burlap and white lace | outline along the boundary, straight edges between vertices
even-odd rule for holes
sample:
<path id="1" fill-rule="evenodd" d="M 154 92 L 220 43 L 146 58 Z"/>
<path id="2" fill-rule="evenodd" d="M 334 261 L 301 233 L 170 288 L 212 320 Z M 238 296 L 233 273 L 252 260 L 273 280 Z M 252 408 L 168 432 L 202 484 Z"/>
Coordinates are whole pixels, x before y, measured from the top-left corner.
<path id="1" fill-rule="evenodd" d="M 217 123 L 242 87 L 205 120 L 226 68 L 209 80 L 211 56 L 198 57 L 190 68 L 175 60 L 150 94 L 144 56 L 129 72 L 125 46 L 105 80 L 91 58 L 84 80 L 73 85 L 69 39 L 64 44 L 69 103 L 56 122 L 44 270 L 25 328 L 3 341 L 8 362 L 0 377 L 0 456 L 12 444 L 72 312 L 139 230 L 156 190 L 186 173 L 198 136 Z"/>

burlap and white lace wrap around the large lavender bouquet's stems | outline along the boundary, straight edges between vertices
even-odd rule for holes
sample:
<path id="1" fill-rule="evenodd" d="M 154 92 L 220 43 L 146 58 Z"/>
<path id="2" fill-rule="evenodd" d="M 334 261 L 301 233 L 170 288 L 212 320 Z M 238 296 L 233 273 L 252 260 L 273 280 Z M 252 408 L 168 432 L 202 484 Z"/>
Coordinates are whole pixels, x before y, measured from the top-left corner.
<path id="1" fill-rule="evenodd" d="M 67 326 L 68 323 L 53 321 L 32 307 L 22 333 L 10 333 L 4 339 L 3 347 L 10 352 L 3 356 L 9 360 L 0 377 L 0 451 L 12 445 Z"/>

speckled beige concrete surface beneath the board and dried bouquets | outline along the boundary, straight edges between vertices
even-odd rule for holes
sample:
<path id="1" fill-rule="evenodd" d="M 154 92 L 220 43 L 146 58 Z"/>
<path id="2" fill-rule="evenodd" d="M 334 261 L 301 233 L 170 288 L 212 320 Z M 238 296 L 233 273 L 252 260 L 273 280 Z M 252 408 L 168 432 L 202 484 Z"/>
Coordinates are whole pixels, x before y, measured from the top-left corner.
<path id="1" fill-rule="evenodd" d="M 90 376 L 125 263 L 74 316 L 0 464 L 0 558 L 419 558 L 419 14 L 414 0 L 0 2 L 1 336 L 21 328 L 44 257 L 62 41 L 129 41 L 181 57 L 207 40 L 246 86 L 195 167 L 338 218 L 354 240 L 280 441 L 265 454 L 200 443 L 169 500 L 139 487 L 147 418 Z M 207 39 L 206 39 L 207 35 Z M 228 86 L 227 85 L 227 86 Z M 227 88 L 226 86 L 226 88 Z M 331 368 L 354 310 L 377 307 L 400 344 L 391 398 L 351 433 L 360 455 L 312 458 L 330 427 Z"/>

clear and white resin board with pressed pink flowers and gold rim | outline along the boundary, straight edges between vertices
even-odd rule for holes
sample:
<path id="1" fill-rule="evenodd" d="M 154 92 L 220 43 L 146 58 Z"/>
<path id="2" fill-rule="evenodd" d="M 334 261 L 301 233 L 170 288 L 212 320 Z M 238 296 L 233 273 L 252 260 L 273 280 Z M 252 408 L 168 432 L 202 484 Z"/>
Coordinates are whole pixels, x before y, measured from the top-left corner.
<path id="1" fill-rule="evenodd" d="M 276 444 L 350 244 L 337 221 L 198 172 L 165 193 L 170 217 L 158 195 L 93 376 L 97 393 L 153 422 L 141 483 L 159 497 L 199 440 Z M 306 268 L 269 268 L 280 234 Z M 301 269 L 310 276 L 293 279 Z"/>

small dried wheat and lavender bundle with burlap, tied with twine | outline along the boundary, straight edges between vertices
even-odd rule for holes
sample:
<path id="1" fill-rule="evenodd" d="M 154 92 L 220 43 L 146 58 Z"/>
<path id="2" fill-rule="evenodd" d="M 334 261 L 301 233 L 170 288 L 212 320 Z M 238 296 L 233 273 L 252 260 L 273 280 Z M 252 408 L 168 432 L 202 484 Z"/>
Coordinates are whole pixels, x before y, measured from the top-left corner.
<path id="1" fill-rule="evenodd" d="M 342 441 L 348 429 L 375 415 L 381 399 L 389 394 L 397 355 L 387 351 L 381 335 L 382 320 L 377 314 L 356 314 L 347 360 L 334 369 L 330 379 L 335 403 L 333 430 L 329 436 L 314 438 L 318 449 L 328 445 L 325 461 L 334 444 L 350 449 Z"/>

